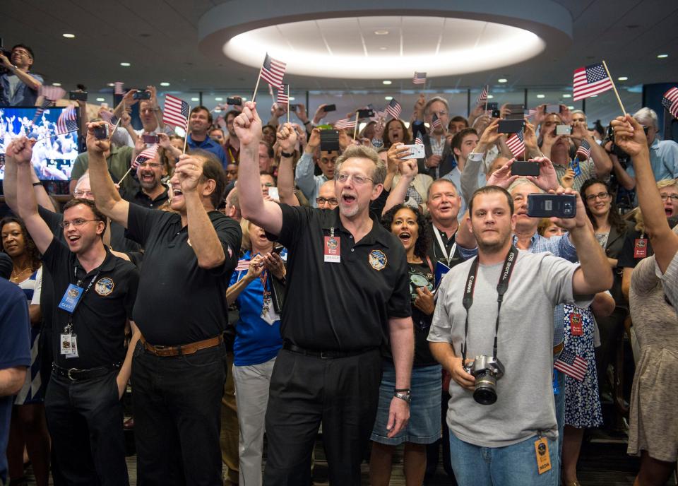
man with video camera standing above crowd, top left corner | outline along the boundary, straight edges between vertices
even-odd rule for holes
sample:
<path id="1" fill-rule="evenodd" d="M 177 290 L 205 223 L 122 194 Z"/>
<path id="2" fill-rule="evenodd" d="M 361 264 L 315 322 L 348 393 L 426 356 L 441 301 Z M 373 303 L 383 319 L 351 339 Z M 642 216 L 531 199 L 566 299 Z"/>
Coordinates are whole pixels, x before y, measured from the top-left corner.
<path id="1" fill-rule="evenodd" d="M 9 59 L 0 50 L 0 64 L 5 71 L 0 74 L 0 105 L 35 105 L 42 77 L 28 73 L 34 58 L 33 50 L 23 44 L 12 47 Z"/>

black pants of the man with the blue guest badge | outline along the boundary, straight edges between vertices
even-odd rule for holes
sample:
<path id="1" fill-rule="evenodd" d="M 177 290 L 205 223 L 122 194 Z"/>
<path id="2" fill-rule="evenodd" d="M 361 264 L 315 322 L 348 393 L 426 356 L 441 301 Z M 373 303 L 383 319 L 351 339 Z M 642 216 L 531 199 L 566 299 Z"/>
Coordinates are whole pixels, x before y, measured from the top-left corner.
<path id="1" fill-rule="evenodd" d="M 49 380 L 44 398 L 47 427 L 68 485 L 129 484 L 117 373 L 82 381 L 52 374 Z"/>

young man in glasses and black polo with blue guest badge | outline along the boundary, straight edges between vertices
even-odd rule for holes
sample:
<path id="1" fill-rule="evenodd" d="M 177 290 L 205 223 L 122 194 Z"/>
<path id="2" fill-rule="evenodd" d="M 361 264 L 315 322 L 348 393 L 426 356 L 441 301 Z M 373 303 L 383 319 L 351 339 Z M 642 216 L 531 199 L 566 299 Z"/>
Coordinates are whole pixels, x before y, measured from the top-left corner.
<path id="1" fill-rule="evenodd" d="M 30 143 L 13 149 L 18 186 L 30 184 Z M 40 218 L 33 191 L 18 191 L 19 215 L 44 266 L 52 273 L 52 312 L 59 336 L 52 379 L 44 400 L 55 458 L 68 484 L 128 484 L 120 397 L 131 371 L 133 338 L 125 328 L 138 287 L 138 271 L 113 256 L 102 242 L 106 218 L 94 203 L 72 199 L 64 206 L 66 244 Z M 61 297 L 63 296 L 63 297 Z"/>

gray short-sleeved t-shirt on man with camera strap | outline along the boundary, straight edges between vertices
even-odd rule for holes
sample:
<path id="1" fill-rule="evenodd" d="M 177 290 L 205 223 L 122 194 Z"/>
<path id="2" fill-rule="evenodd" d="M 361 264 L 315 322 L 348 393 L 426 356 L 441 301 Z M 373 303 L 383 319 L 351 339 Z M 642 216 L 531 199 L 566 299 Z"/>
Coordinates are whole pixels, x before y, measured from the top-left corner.
<path id="1" fill-rule="evenodd" d="M 438 290 L 429 341 L 451 343 L 461 356 L 466 311 L 464 287 L 473 259 L 452 268 Z M 469 310 L 468 358 L 492 356 L 496 321 L 496 284 L 504 262 L 480 265 Z M 460 439 L 482 447 L 517 444 L 542 432 L 558 436 L 552 390 L 553 311 L 560 303 L 588 307 L 593 295 L 572 293 L 578 263 L 550 253 L 518 252 L 509 289 L 501 304 L 497 358 L 504 377 L 496 384 L 497 401 L 480 405 L 473 392 L 450 383 L 447 425 Z"/>

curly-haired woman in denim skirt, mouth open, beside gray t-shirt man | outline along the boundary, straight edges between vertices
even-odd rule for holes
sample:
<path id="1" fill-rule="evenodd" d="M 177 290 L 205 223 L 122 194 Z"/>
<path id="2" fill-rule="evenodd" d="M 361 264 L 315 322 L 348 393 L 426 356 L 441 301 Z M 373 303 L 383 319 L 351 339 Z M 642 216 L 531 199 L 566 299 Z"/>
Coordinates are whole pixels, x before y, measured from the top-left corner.
<path id="1" fill-rule="evenodd" d="M 410 267 L 412 322 L 415 325 L 415 361 L 412 366 L 410 422 L 394 437 L 388 437 L 388 408 L 396 388 L 393 358 L 384 349 L 379 408 L 371 440 L 369 479 L 372 486 L 388 485 L 391 460 L 396 446 L 405 443 L 403 469 L 405 484 L 421 485 L 426 472 L 426 446 L 441 434 L 441 367 L 429 351 L 427 337 L 433 319 L 434 268 L 427 256 L 431 239 L 429 225 L 417 208 L 400 204 L 388 210 L 381 224 L 405 247 Z"/>

